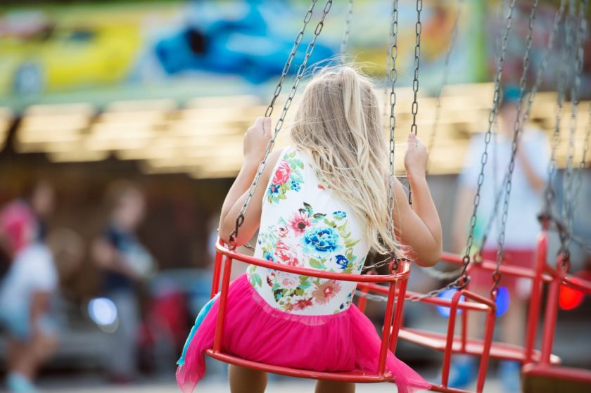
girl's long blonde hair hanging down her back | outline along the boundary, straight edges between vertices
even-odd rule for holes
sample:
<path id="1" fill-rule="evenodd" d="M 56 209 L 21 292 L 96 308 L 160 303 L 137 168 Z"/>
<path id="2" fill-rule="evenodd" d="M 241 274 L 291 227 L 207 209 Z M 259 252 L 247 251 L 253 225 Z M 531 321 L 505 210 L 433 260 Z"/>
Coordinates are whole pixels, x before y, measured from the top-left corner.
<path id="1" fill-rule="evenodd" d="M 319 181 L 365 224 L 371 249 L 400 255 L 402 247 L 390 231 L 383 131 L 373 84 L 341 66 L 319 72 L 307 85 L 291 141 L 310 154 Z"/>

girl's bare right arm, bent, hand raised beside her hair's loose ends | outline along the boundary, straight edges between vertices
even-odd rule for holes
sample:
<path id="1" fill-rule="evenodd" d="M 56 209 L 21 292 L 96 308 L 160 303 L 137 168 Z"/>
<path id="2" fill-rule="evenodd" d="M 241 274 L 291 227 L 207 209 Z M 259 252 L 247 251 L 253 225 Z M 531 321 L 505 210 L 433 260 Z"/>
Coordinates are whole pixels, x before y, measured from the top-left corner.
<path id="1" fill-rule="evenodd" d="M 426 181 L 427 151 L 414 134 L 410 134 L 405 167 L 412 189 L 411 208 L 402 184 L 395 181 L 397 209 L 394 211 L 396 235 L 410 247 L 410 255 L 419 266 L 433 266 L 442 252 L 441 222 Z"/>

